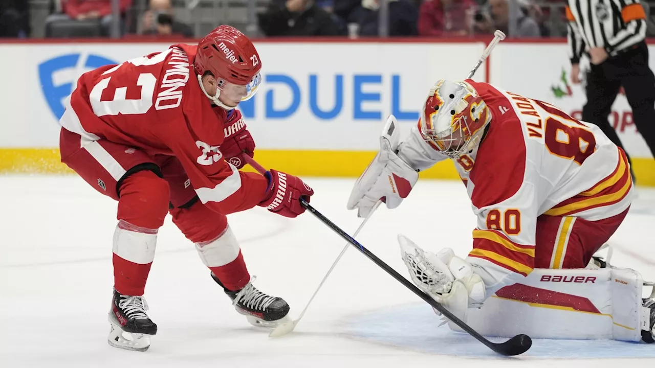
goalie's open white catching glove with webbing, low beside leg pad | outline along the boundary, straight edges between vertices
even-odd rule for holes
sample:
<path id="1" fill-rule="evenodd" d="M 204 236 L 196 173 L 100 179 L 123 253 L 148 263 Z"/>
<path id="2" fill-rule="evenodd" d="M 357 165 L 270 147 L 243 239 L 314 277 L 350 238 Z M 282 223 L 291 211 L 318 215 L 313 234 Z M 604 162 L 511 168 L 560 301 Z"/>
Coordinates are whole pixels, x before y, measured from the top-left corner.
<path id="1" fill-rule="evenodd" d="M 473 273 L 470 263 L 455 256 L 453 249 L 441 249 L 434 254 L 424 251 L 403 235 L 398 235 L 398 243 L 414 284 L 460 320 L 466 320 L 469 306 L 479 308 L 487 299 L 480 276 Z M 434 312 L 441 316 L 438 310 Z M 444 319 L 440 325 L 446 322 Z"/>

